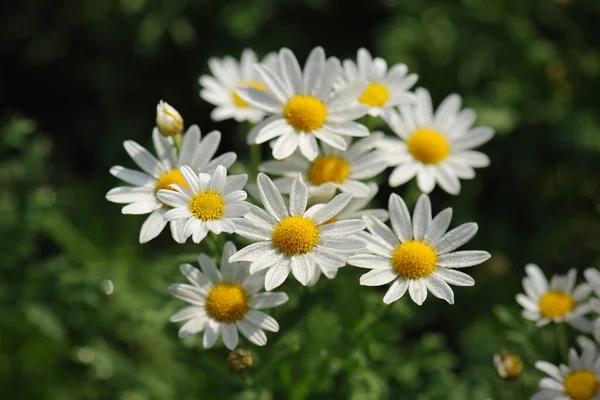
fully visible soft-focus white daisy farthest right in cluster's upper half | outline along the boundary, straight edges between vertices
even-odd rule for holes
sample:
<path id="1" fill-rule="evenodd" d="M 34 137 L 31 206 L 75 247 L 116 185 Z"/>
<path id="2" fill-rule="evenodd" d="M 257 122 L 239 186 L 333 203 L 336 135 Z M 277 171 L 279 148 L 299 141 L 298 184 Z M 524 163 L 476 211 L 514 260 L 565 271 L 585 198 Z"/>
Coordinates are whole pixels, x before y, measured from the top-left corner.
<path id="1" fill-rule="evenodd" d="M 492 128 L 473 128 L 475 112 L 460 111 L 456 94 L 446 97 L 434 113 L 431 97 L 425 89 L 416 91 L 415 105 L 401 105 L 400 115 L 386 111 L 384 118 L 400 140 L 381 142 L 390 166 L 396 166 L 389 178 L 392 187 L 400 186 L 415 175 L 423 193 L 436 183 L 450 194 L 460 192 L 459 179 L 475 177 L 474 168 L 487 167 L 488 156 L 472 149 L 494 136 Z"/>

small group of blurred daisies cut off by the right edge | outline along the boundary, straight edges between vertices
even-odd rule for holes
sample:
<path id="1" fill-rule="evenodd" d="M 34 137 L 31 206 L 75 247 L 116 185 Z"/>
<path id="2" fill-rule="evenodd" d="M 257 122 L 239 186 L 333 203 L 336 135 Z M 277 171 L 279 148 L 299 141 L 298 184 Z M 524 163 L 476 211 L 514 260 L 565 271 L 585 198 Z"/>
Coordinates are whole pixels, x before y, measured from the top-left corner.
<path id="1" fill-rule="evenodd" d="M 577 342 L 581 352 L 570 348 L 566 364 L 556 366 L 547 361 L 536 362 L 536 368 L 548 376 L 540 381 L 541 391 L 531 399 L 599 400 L 600 271 L 596 268 L 586 269 L 586 282 L 579 285 L 576 285 L 575 269 L 566 275 L 555 275 L 549 281 L 535 264 L 526 265 L 525 272 L 525 293 L 516 297 L 523 307 L 524 318 L 535 321 L 539 327 L 566 323 L 582 334 L 591 334 L 593 338 L 579 336 Z M 498 365 L 498 359 L 496 363 Z"/>

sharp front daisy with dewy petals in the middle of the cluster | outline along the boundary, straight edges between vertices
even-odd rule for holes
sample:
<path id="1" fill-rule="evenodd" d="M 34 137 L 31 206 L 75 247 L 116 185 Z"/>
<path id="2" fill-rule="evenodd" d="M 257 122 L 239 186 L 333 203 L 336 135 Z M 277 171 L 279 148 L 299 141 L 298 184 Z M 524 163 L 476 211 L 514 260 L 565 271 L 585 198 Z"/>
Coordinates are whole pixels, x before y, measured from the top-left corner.
<path id="1" fill-rule="evenodd" d="M 268 268 L 265 289 L 283 283 L 290 271 L 302 285 L 315 282 L 323 272 L 333 278 L 348 255 L 364 243 L 349 238 L 365 228 L 357 219 L 324 224 L 334 218 L 352 195 L 341 193 L 325 205 L 306 209 L 308 190 L 302 178 L 292 184 L 289 207 L 265 174 L 258 174 L 258 191 L 265 207 L 248 204 L 248 214 L 236 219 L 236 233 L 255 243 L 244 247 L 229 261 L 250 261 L 250 273 Z"/>

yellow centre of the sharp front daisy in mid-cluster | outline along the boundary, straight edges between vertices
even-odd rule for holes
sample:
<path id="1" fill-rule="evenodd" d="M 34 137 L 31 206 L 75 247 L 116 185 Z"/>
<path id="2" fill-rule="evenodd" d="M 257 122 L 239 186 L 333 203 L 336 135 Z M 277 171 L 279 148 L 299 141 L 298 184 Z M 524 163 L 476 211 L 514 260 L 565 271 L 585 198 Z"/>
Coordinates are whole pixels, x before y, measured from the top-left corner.
<path id="1" fill-rule="evenodd" d="M 286 217 L 273 231 L 273 244 L 287 256 L 310 252 L 319 242 L 319 230 L 310 218 Z"/>

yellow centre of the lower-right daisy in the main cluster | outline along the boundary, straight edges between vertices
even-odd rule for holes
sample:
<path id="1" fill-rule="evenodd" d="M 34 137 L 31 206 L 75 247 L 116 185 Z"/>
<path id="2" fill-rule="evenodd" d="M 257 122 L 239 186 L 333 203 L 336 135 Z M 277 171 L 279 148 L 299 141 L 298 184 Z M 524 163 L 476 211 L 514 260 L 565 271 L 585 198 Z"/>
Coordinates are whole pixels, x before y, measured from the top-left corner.
<path id="1" fill-rule="evenodd" d="M 392 253 L 392 267 L 404 279 L 421 279 L 437 268 L 437 254 L 418 240 L 400 243 Z"/>

